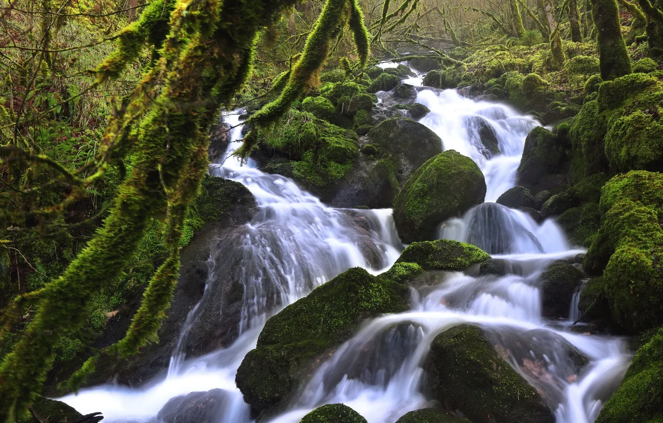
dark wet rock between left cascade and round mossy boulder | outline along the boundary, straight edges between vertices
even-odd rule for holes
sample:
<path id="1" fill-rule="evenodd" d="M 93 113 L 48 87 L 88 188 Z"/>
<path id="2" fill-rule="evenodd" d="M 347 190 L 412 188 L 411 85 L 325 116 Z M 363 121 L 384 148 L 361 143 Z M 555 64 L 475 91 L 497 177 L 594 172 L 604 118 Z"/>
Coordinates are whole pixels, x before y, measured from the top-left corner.
<path id="1" fill-rule="evenodd" d="M 398 194 L 398 171 L 391 158 L 375 160 L 379 146 L 374 144 L 362 147 L 361 156 L 353 169 L 338 183 L 338 190 L 330 202 L 336 208 L 371 209 L 390 208 Z"/>

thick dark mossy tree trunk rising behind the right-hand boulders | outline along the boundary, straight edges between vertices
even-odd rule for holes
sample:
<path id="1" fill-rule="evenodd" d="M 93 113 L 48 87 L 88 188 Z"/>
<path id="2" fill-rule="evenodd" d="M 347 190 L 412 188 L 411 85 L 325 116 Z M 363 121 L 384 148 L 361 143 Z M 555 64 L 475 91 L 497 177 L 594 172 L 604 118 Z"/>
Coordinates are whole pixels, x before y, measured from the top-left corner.
<path id="1" fill-rule="evenodd" d="M 593 0 L 592 15 L 599 38 L 601 78 L 613 80 L 631 73 L 631 58 L 619 25 L 617 0 Z"/>

